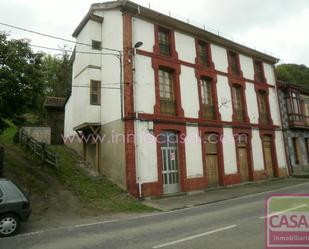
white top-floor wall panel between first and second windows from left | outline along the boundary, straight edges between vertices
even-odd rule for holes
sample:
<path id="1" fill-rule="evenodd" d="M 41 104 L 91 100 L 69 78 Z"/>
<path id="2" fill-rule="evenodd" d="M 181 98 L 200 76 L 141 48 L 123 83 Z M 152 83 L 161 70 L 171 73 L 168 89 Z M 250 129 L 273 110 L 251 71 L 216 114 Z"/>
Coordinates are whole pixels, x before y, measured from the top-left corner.
<path id="1" fill-rule="evenodd" d="M 195 63 L 196 48 L 193 37 L 175 32 L 175 44 L 180 60 Z"/>

